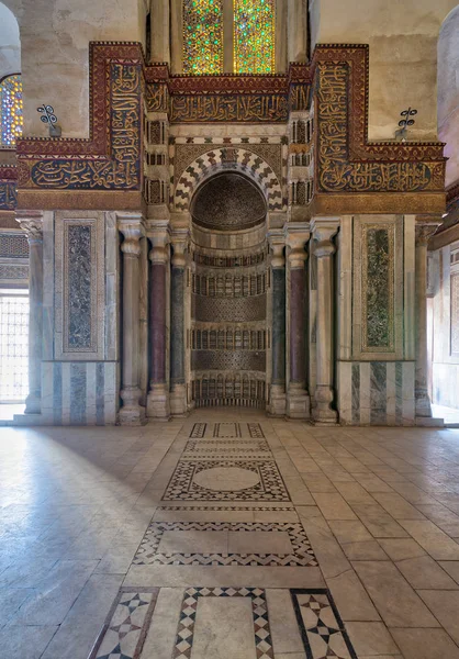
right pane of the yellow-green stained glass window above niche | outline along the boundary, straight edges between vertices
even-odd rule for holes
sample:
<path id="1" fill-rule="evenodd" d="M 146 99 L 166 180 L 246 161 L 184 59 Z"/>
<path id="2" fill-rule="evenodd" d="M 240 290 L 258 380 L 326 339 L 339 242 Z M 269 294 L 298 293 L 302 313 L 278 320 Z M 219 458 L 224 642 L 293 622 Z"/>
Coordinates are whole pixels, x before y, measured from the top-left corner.
<path id="1" fill-rule="evenodd" d="M 275 71 L 276 0 L 234 0 L 234 71 Z"/>

